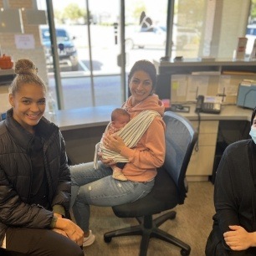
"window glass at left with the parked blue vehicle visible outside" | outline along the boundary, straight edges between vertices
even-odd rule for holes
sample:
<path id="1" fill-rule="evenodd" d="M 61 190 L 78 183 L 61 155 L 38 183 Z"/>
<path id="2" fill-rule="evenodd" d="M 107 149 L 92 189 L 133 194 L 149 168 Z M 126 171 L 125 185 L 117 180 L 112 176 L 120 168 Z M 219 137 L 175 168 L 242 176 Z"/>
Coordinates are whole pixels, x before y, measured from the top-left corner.
<path id="1" fill-rule="evenodd" d="M 59 97 L 64 109 L 121 105 L 124 101 L 117 64 L 120 41 L 115 40 L 114 29 L 120 15 L 119 2 L 53 1 Z M 38 7 L 47 10 L 45 0 L 38 1 Z M 49 72 L 49 91 L 57 100 L 49 26 L 41 27 L 40 31 Z"/>

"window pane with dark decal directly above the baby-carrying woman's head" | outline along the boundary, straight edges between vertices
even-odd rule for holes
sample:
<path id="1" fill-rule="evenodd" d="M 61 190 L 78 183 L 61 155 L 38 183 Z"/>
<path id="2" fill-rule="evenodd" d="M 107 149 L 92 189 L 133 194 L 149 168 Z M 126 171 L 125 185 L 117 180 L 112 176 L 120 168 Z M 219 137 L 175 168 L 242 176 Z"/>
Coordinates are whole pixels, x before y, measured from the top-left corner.
<path id="1" fill-rule="evenodd" d="M 125 1 L 126 69 L 139 59 L 159 60 L 166 50 L 167 0 Z"/>

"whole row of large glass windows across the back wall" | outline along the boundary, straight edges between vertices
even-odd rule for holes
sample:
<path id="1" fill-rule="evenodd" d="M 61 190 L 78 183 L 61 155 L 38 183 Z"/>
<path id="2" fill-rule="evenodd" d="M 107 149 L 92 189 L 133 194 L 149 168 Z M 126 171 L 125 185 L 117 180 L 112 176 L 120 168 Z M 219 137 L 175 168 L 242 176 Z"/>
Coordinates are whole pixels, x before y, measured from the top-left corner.
<path id="1" fill-rule="evenodd" d="M 38 0 L 38 3 L 40 8 L 46 9 L 45 0 Z M 126 77 L 138 59 L 159 61 L 165 56 L 166 37 L 170 32 L 166 28 L 168 0 L 160 0 L 157 4 L 154 0 L 124 1 L 125 28 L 120 24 L 120 3 L 120 0 L 107 3 L 102 0 L 53 1 L 61 78 L 59 95 L 64 109 L 121 105 L 127 86 L 122 83 L 122 75 Z M 171 57 L 231 59 L 238 37 L 245 35 L 246 24 L 244 15 L 233 16 L 241 11 L 240 4 L 230 6 L 230 3 L 176 0 L 171 21 Z M 241 3 L 243 13 L 247 13 L 248 3 Z M 229 25 L 231 17 L 233 26 Z M 252 33 L 253 28 L 249 26 L 248 32 Z M 125 53 L 121 53 L 122 29 L 125 29 Z M 56 97 L 58 86 L 49 30 L 42 27 L 41 35 L 49 71 L 49 90 Z M 121 54 L 125 54 L 125 74 L 121 74 Z"/>

